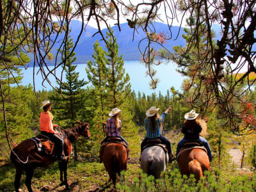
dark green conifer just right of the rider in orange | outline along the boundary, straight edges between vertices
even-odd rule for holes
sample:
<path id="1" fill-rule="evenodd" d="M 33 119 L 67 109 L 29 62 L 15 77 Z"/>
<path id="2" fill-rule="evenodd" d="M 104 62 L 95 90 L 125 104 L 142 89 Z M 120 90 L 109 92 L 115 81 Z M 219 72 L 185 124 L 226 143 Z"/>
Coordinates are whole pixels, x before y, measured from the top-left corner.
<path id="1" fill-rule="evenodd" d="M 66 72 L 66 81 L 58 83 L 60 87 L 57 92 L 53 92 L 51 100 L 55 102 L 54 108 L 58 109 L 56 119 L 62 120 L 66 128 L 74 127 L 77 121 L 77 114 L 83 104 L 83 86 L 86 84 L 84 79 L 79 80 L 79 72 L 76 72 L 77 65 L 72 65 L 76 61 L 75 52 L 71 52 L 74 46 L 72 38 L 68 36 L 67 44 L 61 52 L 61 60 L 64 63 L 63 70 Z M 74 143 L 74 160 L 77 160 L 77 145 Z"/>

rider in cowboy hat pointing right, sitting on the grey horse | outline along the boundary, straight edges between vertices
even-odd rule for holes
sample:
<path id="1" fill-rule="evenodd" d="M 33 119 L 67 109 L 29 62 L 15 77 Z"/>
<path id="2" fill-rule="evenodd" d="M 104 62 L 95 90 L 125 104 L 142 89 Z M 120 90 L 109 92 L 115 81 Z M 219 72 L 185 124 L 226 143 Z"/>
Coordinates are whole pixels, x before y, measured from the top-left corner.
<path id="1" fill-rule="evenodd" d="M 148 139 L 159 139 L 162 143 L 164 143 L 168 149 L 169 154 L 169 161 L 172 162 L 175 160 L 175 157 L 172 154 L 172 146 L 168 139 L 166 139 L 163 135 L 161 135 L 159 127 L 161 124 L 163 124 L 164 117 L 166 114 L 172 109 L 172 106 L 170 106 L 164 113 L 159 116 L 157 111 L 159 111 L 159 108 L 156 108 L 155 106 L 152 106 L 150 109 L 147 110 L 146 115 L 147 118 L 145 118 L 145 129 L 147 130 L 147 136 L 144 138 L 144 140 L 141 142 L 141 152 L 143 150 L 143 147 L 145 147 Z"/>

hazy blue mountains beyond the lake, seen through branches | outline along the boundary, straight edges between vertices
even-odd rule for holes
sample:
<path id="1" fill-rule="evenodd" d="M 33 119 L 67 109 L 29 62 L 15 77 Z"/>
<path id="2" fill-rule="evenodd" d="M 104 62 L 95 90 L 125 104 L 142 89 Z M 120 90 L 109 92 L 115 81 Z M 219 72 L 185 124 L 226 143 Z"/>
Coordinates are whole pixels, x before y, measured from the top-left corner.
<path id="1" fill-rule="evenodd" d="M 70 36 L 73 38 L 73 40 L 77 39 L 77 36 L 79 35 L 82 27 L 82 22 L 79 20 L 72 20 L 70 23 Z M 112 29 L 114 31 L 114 35 L 116 36 L 118 45 L 119 45 L 119 55 L 122 54 L 123 59 L 125 61 L 136 61 L 140 60 L 141 54 L 138 49 L 138 44 L 141 39 L 145 38 L 145 33 L 142 31 L 142 29 L 138 29 L 135 32 L 133 29 L 131 29 L 127 23 L 120 24 L 121 31 L 119 31 L 118 26 L 113 26 Z M 172 47 L 175 45 L 184 46 L 186 45 L 185 40 L 182 38 L 181 34 L 184 33 L 183 28 L 180 28 L 179 26 L 172 26 L 172 36 L 170 34 L 170 31 L 168 30 L 168 25 L 163 24 L 161 22 L 154 22 L 154 28 L 156 31 L 163 32 L 169 37 L 172 37 L 170 40 L 166 40 L 166 43 L 164 43 L 164 47 L 172 51 Z M 102 33 L 106 35 L 106 31 L 108 29 L 102 29 Z M 86 63 L 88 60 L 93 60 L 92 54 L 93 54 L 93 44 L 96 40 L 99 40 L 100 45 L 104 47 L 105 45 L 102 41 L 102 37 L 99 33 L 97 33 L 98 29 L 92 28 L 91 26 L 86 27 L 86 31 L 83 30 L 83 33 L 81 34 L 79 38 L 79 43 L 76 46 L 75 52 L 76 52 L 76 64 L 79 63 Z M 133 33 L 134 32 L 134 33 Z M 95 36 L 93 36 L 95 33 L 97 33 Z M 176 38 L 177 34 L 179 33 L 178 38 Z M 61 41 L 64 38 L 64 33 L 61 34 L 58 37 L 58 43 L 54 45 L 52 48 L 52 54 L 56 55 L 58 46 L 60 45 Z M 133 37 L 134 36 L 134 37 Z M 101 41 L 100 41 L 101 40 Z M 147 42 L 143 42 L 141 45 L 145 47 L 147 45 Z M 143 47 L 142 46 L 142 47 Z M 159 49 L 160 46 L 154 47 L 156 49 Z M 31 58 L 32 59 L 32 58 Z M 53 63 L 54 61 L 49 61 L 49 64 Z M 31 61 L 32 63 L 32 61 Z"/>

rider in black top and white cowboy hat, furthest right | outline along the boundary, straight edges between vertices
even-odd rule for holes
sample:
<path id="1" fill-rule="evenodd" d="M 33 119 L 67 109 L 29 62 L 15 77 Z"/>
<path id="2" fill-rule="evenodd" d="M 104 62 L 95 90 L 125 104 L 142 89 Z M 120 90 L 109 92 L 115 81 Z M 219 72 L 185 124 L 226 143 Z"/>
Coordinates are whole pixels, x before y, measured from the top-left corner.
<path id="1" fill-rule="evenodd" d="M 195 141 L 200 145 L 204 146 L 207 150 L 207 155 L 209 156 L 209 160 L 212 160 L 212 152 L 210 145 L 205 138 L 200 136 L 200 132 L 202 131 L 202 125 L 200 125 L 200 121 L 196 119 L 198 117 L 198 113 L 195 110 L 191 110 L 185 114 L 185 121 L 182 126 L 182 133 L 184 134 L 184 138 L 179 141 L 177 145 L 176 157 L 179 154 L 180 148 L 184 147 L 186 142 Z"/>

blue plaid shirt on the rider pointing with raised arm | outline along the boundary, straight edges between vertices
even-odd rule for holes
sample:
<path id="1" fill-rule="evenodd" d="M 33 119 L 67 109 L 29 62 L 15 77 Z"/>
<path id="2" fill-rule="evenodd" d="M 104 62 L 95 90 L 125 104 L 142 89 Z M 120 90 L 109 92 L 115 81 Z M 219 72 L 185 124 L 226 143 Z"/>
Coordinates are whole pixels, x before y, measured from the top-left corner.
<path id="1" fill-rule="evenodd" d="M 161 136 L 160 130 L 159 130 L 159 124 L 164 121 L 166 113 L 163 113 L 157 120 L 156 120 L 156 129 L 153 131 L 150 127 L 150 118 L 145 118 L 145 129 L 147 130 L 147 138 L 158 138 Z"/>

